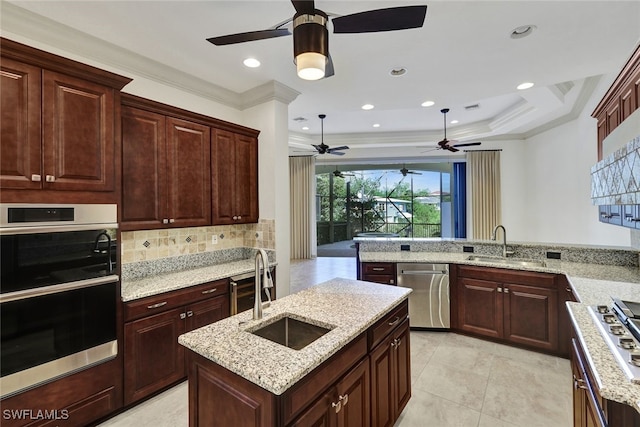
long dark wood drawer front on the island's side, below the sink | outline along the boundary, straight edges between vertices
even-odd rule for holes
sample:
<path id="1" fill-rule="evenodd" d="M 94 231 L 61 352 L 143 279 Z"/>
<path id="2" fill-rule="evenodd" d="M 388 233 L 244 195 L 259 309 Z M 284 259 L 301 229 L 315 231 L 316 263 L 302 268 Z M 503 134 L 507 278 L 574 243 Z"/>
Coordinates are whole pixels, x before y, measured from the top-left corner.
<path id="1" fill-rule="evenodd" d="M 348 347 L 317 367 L 305 379 L 283 395 L 284 425 L 289 424 L 311 402 L 333 385 L 347 370 L 367 354 L 365 334 L 351 341 Z"/>

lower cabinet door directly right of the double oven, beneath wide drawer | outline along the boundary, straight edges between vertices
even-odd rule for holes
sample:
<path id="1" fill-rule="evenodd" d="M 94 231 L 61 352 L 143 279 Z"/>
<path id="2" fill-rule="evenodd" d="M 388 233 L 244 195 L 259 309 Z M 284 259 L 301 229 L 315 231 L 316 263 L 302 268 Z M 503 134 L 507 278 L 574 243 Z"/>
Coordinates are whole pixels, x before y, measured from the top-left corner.
<path id="1" fill-rule="evenodd" d="M 178 308 L 125 324 L 125 405 L 185 376 L 184 347 L 178 344 L 183 317 Z"/>

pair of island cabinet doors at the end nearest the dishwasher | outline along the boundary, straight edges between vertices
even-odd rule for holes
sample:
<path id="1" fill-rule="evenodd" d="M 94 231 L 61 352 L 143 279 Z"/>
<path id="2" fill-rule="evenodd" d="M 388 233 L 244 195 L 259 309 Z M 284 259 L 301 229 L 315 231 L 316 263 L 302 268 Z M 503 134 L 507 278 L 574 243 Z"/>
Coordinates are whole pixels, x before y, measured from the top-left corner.
<path id="1" fill-rule="evenodd" d="M 405 320 L 372 352 L 371 425 L 391 427 L 411 397 L 409 321 Z"/>

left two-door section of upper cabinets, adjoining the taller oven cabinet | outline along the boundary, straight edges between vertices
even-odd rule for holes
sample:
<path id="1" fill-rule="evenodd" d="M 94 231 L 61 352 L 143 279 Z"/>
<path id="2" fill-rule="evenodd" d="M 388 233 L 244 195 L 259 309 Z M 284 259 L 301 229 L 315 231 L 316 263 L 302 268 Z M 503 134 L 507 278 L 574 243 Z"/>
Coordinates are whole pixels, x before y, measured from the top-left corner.
<path id="1" fill-rule="evenodd" d="M 123 230 L 211 223 L 209 127 L 125 105 L 122 140 Z"/>

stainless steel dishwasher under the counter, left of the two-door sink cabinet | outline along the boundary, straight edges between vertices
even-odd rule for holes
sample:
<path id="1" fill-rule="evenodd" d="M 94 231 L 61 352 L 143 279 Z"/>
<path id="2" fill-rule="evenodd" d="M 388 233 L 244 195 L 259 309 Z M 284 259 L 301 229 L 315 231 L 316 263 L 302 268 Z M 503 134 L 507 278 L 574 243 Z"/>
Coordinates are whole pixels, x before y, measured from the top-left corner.
<path id="1" fill-rule="evenodd" d="M 449 328 L 449 265 L 398 263 L 398 286 L 413 289 L 409 294 L 409 326 Z"/>

